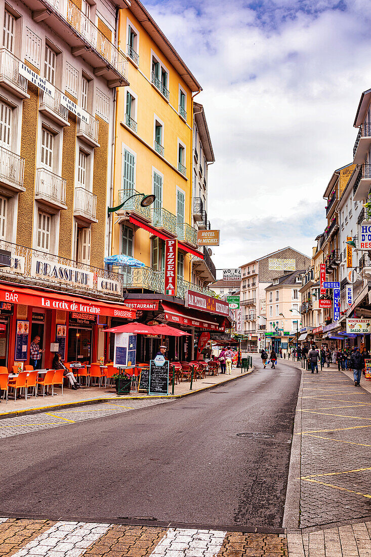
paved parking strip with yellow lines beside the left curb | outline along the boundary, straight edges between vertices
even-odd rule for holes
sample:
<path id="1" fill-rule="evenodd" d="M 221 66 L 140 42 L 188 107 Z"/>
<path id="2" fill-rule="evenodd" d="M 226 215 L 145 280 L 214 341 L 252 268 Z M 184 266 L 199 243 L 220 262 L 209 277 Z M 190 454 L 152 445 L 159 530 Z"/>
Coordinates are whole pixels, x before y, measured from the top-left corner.
<path id="1" fill-rule="evenodd" d="M 22 433 L 40 431 L 41 429 L 49 429 L 51 427 L 68 426 L 71 423 L 82 422 L 87 419 L 102 418 L 104 416 L 129 412 L 137 408 L 145 408 L 153 406 L 154 404 L 164 404 L 166 402 L 170 402 L 170 400 L 147 399 L 128 400 L 127 402 L 118 400 L 117 403 L 104 402 L 92 406 L 65 408 L 39 414 L 21 415 L 15 418 L 4 418 L 0 420 L 0 439 L 12 437 L 13 435 L 20 435 Z"/>

